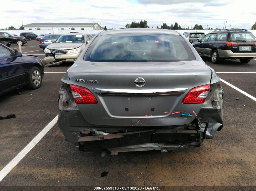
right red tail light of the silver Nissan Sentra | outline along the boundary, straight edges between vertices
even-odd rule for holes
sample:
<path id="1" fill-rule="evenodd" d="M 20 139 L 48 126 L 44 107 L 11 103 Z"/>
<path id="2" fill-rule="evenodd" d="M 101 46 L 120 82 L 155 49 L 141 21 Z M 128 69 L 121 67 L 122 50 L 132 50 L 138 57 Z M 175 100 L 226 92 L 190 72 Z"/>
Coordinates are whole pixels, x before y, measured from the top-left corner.
<path id="1" fill-rule="evenodd" d="M 181 103 L 204 103 L 209 89 L 210 84 L 192 88 Z"/>

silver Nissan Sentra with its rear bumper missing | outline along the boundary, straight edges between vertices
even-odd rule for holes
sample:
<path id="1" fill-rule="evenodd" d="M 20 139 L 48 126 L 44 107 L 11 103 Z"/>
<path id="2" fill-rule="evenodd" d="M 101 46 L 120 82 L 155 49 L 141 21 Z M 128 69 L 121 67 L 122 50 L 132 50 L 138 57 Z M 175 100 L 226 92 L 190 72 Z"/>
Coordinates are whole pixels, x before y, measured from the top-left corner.
<path id="1" fill-rule="evenodd" d="M 175 151 L 222 129 L 222 100 L 219 76 L 177 31 L 108 30 L 62 78 L 58 126 L 80 151 Z"/>

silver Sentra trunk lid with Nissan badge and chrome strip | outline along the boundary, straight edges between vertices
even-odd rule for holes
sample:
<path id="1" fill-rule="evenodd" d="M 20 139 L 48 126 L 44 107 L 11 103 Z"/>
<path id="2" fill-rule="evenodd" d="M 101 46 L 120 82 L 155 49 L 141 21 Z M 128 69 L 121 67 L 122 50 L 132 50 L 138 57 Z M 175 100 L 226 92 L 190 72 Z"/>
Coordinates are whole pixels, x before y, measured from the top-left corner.
<path id="1" fill-rule="evenodd" d="M 97 104 L 77 104 L 82 115 L 91 124 L 105 126 L 188 124 L 202 104 L 182 104 L 182 99 L 192 88 L 211 80 L 210 68 L 196 60 L 83 61 L 75 63 L 68 73 L 71 84 L 88 88 L 98 100 Z M 145 79 L 142 87 L 136 86 L 137 78 Z"/>

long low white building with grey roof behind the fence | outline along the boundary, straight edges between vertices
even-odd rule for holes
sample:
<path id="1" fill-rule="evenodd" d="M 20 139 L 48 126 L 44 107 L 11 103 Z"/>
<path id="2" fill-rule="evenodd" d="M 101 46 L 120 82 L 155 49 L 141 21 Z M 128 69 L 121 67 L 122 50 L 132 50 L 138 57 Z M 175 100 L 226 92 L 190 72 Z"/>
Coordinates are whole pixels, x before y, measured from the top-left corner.
<path id="1" fill-rule="evenodd" d="M 98 23 L 30 23 L 23 25 L 25 30 L 101 30 Z"/>

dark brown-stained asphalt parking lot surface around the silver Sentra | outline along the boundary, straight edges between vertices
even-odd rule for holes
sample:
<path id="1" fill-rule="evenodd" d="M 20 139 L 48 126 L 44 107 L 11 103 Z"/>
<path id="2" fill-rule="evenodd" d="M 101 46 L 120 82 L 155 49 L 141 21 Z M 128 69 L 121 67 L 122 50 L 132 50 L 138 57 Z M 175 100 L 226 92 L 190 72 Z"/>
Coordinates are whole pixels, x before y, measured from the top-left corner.
<path id="1" fill-rule="evenodd" d="M 11 46 L 17 48 L 17 46 Z M 22 46 L 24 54 L 44 58 L 37 40 Z M 256 60 L 241 64 L 224 60 L 211 64 L 216 72 L 256 72 Z M 0 170 L 55 116 L 63 73 L 72 63 L 46 68 L 37 90 L 20 89 L 0 97 Z M 256 97 L 256 73 L 218 73 L 225 81 Z M 55 124 L 38 144 L 0 182 L 2 186 L 256 186 L 256 102 L 222 83 L 224 127 L 201 147 L 178 154 L 160 151 L 126 152 L 105 157 L 82 153 Z M 239 100 L 236 98 L 239 97 Z M 103 171 L 107 176 L 101 177 Z M 254 187 L 255 188 L 255 187 Z"/>

